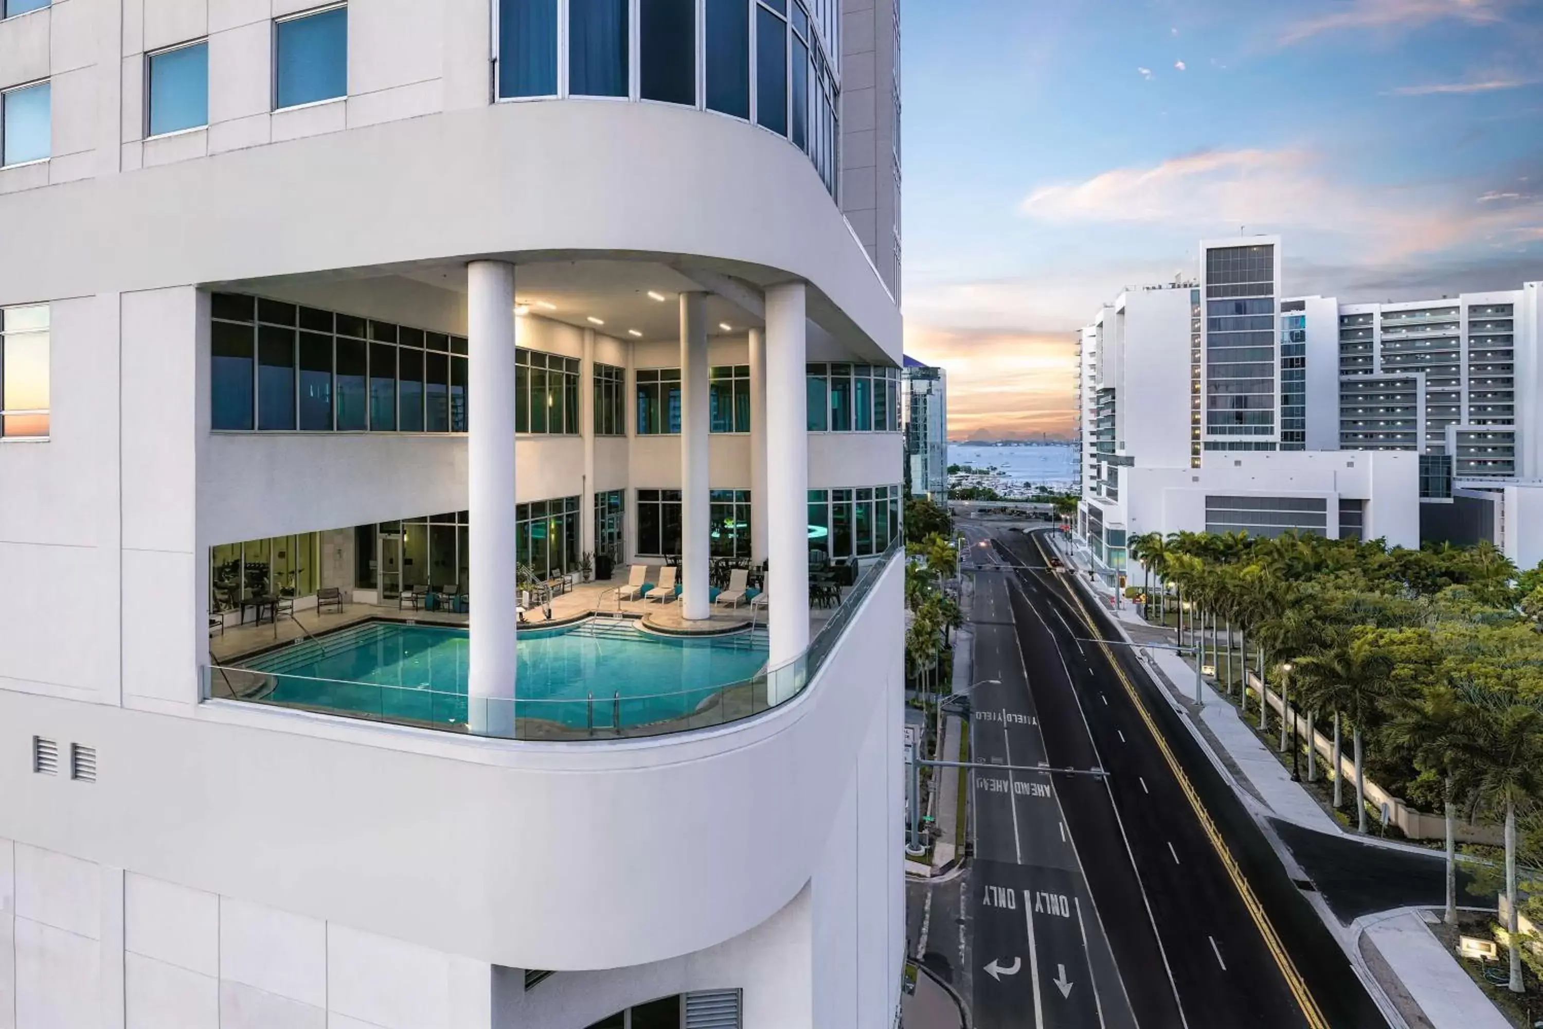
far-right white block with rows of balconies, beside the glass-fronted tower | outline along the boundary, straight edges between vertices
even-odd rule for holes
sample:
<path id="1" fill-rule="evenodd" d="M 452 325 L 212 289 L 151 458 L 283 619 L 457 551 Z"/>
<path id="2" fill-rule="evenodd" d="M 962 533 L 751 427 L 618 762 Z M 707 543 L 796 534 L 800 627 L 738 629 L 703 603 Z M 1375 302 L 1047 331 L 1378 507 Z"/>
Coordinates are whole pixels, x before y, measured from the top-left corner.
<path id="1" fill-rule="evenodd" d="M 1305 336 L 1307 421 L 1324 447 L 1416 454 L 1424 538 L 1543 560 L 1537 282 L 1384 304 L 1308 296 L 1282 318 Z"/>

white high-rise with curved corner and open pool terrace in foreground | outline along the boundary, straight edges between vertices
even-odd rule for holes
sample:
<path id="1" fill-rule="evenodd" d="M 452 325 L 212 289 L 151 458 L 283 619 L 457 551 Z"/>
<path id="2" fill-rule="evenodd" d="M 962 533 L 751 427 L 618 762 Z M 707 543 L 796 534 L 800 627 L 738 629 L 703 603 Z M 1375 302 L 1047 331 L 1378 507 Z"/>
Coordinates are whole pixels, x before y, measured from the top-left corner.
<path id="1" fill-rule="evenodd" d="M 0 1027 L 893 1026 L 898 3 L 0 3 Z"/>

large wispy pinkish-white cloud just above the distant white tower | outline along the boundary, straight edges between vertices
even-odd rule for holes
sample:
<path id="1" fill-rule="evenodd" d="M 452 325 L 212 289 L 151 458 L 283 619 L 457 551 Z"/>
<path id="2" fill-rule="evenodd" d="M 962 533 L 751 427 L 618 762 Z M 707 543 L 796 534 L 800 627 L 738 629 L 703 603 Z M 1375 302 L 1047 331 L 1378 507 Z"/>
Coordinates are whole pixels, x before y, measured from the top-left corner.
<path id="1" fill-rule="evenodd" d="M 1151 167 L 1114 168 L 1034 190 L 1020 213 L 1058 224 L 1167 224 L 1196 236 L 1308 233 L 1350 241 L 1369 262 L 1389 262 L 1543 221 L 1543 199 L 1475 210 L 1461 184 L 1359 187 L 1330 177 L 1333 160 L 1307 150 L 1207 150 Z"/>

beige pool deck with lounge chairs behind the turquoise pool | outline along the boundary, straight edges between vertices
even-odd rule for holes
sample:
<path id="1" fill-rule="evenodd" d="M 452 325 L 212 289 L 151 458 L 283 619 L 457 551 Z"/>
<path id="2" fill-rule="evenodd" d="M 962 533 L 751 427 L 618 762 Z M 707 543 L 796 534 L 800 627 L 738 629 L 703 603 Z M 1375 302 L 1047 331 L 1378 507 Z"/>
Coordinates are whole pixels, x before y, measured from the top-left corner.
<path id="1" fill-rule="evenodd" d="M 645 602 L 617 600 L 613 592 L 625 580 L 620 577 L 608 582 L 579 583 L 568 592 L 552 597 L 551 619 L 542 609 L 526 614 L 523 622 L 528 628 L 543 625 L 565 625 L 596 612 L 622 614 L 642 619 L 643 626 L 671 636 L 721 636 L 751 625 L 748 605 L 727 608 L 713 605 L 713 616 L 705 622 L 688 622 L 680 617 L 680 602 Z M 835 608 L 810 608 L 809 634 L 813 637 L 824 623 L 836 612 Z M 321 636 L 349 625 L 369 622 L 370 619 L 390 619 L 393 622 L 412 622 L 417 625 L 457 625 L 464 626 L 471 620 L 464 614 L 449 611 L 414 611 L 401 608 L 392 600 L 383 605 L 346 603 L 343 611 L 327 611 L 318 614 L 313 608 L 296 611 L 295 617 L 279 619 L 278 623 L 231 626 L 224 633 L 208 637 L 208 653 L 216 665 L 230 663 L 256 651 L 270 649 L 278 643 L 287 643 L 301 636 Z M 755 614 L 756 625 L 767 625 L 767 609 L 762 606 Z"/>

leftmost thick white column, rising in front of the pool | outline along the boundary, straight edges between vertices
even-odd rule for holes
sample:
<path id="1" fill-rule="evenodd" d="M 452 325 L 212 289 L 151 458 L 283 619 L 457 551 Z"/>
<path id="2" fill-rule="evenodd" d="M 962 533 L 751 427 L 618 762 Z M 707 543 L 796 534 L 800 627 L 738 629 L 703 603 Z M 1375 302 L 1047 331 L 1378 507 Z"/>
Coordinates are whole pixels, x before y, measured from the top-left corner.
<path id="1" fill-rule="evenodd" d="M 477 369 L 468 383 L 474 413 L 466 440 L 472 551 L 468 720 L 472 731 L 512 736 L 520 603 L 514 545 L 514 265 L 472 261 L 466 285 L 468 350 Z"/>

